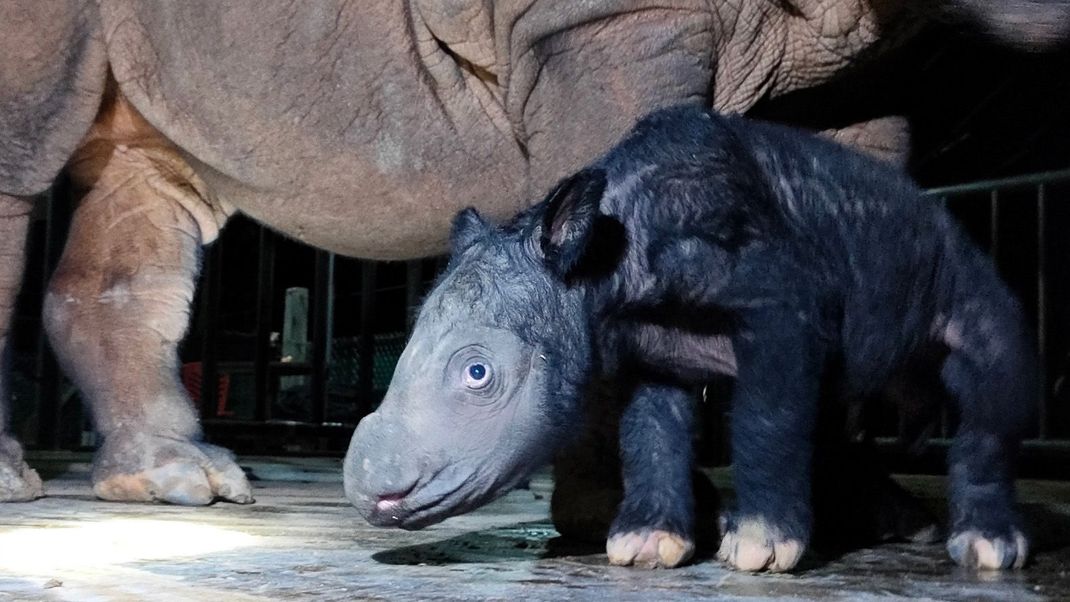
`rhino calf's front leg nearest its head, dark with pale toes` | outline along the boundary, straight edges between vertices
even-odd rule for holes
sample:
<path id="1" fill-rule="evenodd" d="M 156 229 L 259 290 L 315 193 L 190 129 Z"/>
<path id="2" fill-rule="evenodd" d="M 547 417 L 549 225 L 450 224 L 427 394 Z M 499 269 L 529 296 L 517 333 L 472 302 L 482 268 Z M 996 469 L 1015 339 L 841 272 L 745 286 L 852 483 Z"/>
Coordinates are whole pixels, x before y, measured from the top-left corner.
<path id="1" fill-rule="evenodd" d="M 673 568 L 694 552 L 688 392 L 641 384 L 621 417 L 624 500 L 606 553 L 613 565 Z"/>

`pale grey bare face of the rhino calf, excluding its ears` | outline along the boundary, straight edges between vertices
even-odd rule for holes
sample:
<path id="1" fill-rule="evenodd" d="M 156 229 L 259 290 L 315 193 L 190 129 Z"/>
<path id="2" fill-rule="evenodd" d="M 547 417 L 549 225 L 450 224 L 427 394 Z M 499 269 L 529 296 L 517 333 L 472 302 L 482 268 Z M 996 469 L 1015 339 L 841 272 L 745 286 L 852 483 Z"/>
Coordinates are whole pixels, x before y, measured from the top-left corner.
<path id="1" fill-rule="evenodd" d="M 464 216 L 472 217 L 461 214 L 462 229 Z M 476 235 L 489 228 L 469 226 Z M 455 233 L 452 244 L 467 238 Z M 551 365 L 520 325 L 472 319 L 500 314 L 505 306 L 525 320 L 551 312 L 489 294 L 530 289 L 507 285 L 495 274 L 439 287 L 425 300 L 382 403 L 353 433 L 346 494 L 369 523 L 418 529 L 478 508 L 542 465 L 561 438 L 560 426 L 574 422 L 570 404 L 550 400 L 562 391 L 571 399 L 585 362 L 562 353 L 568 365 Z M 582 346 L 582 328 L 554 331 Z"/>

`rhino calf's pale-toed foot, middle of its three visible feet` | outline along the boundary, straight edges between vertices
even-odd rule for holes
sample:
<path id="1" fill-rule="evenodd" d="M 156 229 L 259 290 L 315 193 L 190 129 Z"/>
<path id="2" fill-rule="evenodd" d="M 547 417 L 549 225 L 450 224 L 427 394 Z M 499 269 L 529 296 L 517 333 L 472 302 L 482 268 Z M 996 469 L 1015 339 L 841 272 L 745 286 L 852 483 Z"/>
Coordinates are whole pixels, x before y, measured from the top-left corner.
<path id="1" fill-rule="evenodd" d="M 740 571 L 788 571 L 798 564 L 806 545 L 783 535 L 766 520 L 752 516 L 724 520 L 717 559 Z"/>

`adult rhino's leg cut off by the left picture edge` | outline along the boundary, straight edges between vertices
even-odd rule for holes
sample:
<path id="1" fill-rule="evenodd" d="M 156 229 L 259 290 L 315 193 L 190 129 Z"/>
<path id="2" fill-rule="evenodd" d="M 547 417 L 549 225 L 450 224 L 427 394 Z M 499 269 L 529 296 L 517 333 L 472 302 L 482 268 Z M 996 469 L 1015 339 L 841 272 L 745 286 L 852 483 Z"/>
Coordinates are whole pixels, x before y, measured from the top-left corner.
<path id="1" fill-rule="evenodd" d="M 0 195 L 0 501 L 28 501 L 44 495 L 41 478 L 22 461 L 22 448 L 7 432 L 11 396 L 7 354 L 15 295 L 22 279 L 30 202 Z"/>

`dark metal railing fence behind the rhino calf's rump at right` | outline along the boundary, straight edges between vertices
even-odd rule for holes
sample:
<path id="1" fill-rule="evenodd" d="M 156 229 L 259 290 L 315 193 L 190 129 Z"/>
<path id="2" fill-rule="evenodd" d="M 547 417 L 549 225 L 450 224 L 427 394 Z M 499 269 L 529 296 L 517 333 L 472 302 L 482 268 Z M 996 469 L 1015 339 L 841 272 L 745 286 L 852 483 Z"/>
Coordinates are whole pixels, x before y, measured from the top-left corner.
<path id="1" fill-rule="evenodd" d="M 1022 300 L 1036 333 L 1037 420 L 1023 446 L 1022 474 L 1070 475 L 1070 169 L 932 188 Z M 944 412 L 920 458 L 897 453 L 904 472 L 938 472 L 950 445 L 954 419 Z"/>

